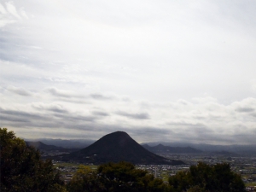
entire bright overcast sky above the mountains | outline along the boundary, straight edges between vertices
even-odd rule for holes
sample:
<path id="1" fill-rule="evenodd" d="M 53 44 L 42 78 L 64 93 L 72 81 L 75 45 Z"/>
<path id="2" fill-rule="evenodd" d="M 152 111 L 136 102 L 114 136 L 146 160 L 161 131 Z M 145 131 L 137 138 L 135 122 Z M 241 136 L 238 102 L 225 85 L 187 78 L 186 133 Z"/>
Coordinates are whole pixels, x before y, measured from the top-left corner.
<path id="1" fill-rule="evenodd" d="M 0 0 L 0 127 L 255 144 L 256 1 Z"/>

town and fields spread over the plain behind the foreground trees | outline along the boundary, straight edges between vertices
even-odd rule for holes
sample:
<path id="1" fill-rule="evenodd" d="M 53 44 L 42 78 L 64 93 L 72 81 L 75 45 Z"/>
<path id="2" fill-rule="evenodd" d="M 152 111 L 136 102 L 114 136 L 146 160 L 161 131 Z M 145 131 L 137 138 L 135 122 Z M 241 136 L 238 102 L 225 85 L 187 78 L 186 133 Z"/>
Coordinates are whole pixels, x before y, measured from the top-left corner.
<path id="1" fill-rule="evenodd" d="M 232 155 L 212 155 L 212 154 L 160 154 L 168 159 L 183 160 L 186 165 L 170 166 L 170 165 L 136 165 L 137 169 L 150 172 L 154 177 L 159 177 L 168 182 L 168 177 L 175 175 L 177 172 L 189 169 L 189 166 L 196 165 L 198 162 L 205 162 L 209 165 L 218 163 L 229 163 L 232 172 L 241 175 L 242 181 L 247 186 L 247 191 L 256 189 L 256 155 L 232 156 Z M 61 172 L 61 178 L 68 183 L 74 172 L 78 170 L 78 163 L 67 163 L 61 160 L 54 161 L 54 165 Z M 96 165 L 86 165 L 90 169 L 96 170 Z"/>

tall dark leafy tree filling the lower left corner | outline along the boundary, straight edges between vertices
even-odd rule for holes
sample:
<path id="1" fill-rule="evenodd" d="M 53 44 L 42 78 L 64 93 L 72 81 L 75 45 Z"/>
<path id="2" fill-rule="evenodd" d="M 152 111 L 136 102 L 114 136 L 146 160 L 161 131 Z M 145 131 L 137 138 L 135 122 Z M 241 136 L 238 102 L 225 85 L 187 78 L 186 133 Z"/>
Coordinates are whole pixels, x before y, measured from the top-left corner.
<path id="1" fill-rule="evenodd" d="M 51 160 L 41 160 L 13 131 L 0 128 L 1 191 L 63 191 Z"/>

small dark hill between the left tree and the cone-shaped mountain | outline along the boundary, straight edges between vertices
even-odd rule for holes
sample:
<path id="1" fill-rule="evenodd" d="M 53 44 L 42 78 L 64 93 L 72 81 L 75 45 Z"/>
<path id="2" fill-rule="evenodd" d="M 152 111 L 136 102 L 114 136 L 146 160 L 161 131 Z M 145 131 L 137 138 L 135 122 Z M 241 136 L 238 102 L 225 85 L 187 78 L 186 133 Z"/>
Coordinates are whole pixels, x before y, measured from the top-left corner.
<path id="1" fill-rule="evenodd" d="M 39 151 L 59 151 L 59 152 L 73 152 L 79 150 L 78 148 L 61 148 L 55 145 L 47 145 L 42 142 L 26 142 L 26 145 L 37 148 Z"/>

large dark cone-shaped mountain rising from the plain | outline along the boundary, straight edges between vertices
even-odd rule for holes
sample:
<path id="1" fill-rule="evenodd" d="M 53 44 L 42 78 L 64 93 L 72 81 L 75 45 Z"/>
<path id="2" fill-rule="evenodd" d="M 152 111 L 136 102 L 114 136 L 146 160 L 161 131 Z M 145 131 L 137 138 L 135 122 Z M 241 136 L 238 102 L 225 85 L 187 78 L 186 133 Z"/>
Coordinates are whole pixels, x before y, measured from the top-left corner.
<path id="1" fill-rule="evenodd" d="M 62 155 L 61 158 L 62 160 L 94 164 L 110 161 L 119 162 L 121 160 L 133 164 L 184 164 L 181 160 L 168 160 L 149 152 L 123 131 L 110 133 L 96 141 L 96 143 L 91 144 L 89 147 L 71 154 Z"/>

